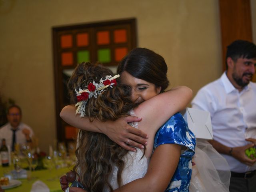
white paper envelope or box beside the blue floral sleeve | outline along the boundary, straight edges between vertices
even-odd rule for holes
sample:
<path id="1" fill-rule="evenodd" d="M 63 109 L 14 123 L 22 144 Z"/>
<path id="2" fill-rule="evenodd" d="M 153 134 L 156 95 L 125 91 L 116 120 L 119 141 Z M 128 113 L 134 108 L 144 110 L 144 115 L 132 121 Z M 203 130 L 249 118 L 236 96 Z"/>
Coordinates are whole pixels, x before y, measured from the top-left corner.
<path id="1" fill-rule="evenodd" d="M 196 138 L 212 140 L 212 122 L 208 111 L 186 108 L 181 112 L 188 128 L 195 134 Z"/>

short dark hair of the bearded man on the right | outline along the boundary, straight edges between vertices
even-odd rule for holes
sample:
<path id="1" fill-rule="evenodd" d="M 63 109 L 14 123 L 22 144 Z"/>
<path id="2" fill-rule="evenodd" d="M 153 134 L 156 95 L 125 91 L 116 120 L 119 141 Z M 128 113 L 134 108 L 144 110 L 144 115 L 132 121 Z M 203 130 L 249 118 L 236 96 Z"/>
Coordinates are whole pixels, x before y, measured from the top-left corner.
<path id="1" fill-rule="evenodd" d="M 256 58 L 256 45 L 245 40 L 236 40 L 227 46 L 226 69 L 228 69 L 227 58 L 230 57 L 234 62 L 238 58 Z"/>

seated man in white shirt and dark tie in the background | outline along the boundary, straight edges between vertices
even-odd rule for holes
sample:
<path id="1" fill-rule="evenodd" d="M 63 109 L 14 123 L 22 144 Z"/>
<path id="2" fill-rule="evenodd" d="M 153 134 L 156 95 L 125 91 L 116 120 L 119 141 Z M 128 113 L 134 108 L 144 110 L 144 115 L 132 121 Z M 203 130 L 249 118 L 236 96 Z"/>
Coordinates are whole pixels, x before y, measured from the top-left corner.
<path id="1" fill-rule="evenodd" d="M 14 151 L 15 144 L 26 144 L 31 142 L 34 135 L 32 129 L 21 122 L 21 109 L 17 105 L 12 105 L 8 108 L 7 119 L 8 123 L 0 128 L 0 140 L 6 140 L 6 145 L 10 146 Z"/>

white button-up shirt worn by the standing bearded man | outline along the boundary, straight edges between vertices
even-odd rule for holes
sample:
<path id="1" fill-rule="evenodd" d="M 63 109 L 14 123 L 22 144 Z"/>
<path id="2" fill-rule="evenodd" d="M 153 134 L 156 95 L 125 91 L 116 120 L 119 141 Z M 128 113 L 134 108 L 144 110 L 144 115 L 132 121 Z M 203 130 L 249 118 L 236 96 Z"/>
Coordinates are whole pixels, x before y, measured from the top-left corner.
<path id="1" fill-rule="evenodd" d="M 228 147 L 245 146 L 246 138 L 256 139 L 256 83 L 250 82 L 239 92 L 226 72 L 201 88 L 192 100 L 192 108 L 209 111 L 213 139 Z M 233 172 L 256 170 L 230 155 L 222 154 Z"/>

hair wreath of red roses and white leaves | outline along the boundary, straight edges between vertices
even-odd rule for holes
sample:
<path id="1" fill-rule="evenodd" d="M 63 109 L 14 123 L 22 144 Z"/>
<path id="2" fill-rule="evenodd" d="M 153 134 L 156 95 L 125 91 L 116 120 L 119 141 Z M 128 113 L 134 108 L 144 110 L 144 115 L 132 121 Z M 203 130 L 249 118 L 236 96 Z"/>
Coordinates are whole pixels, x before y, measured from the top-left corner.
<path id="1" fill-rule="evenodd" d="M 116 86 L 116 78 L 120 77 L 120 75 L 115 75 L 112 77 L 111 75 L 107 75 L 105 79 L 100 79 L 99 83 L 96 83 L 93 81 L 92 83 L 89 83 L 88 86 L 86 86 L 88 89 L 81 89 L 79 88 L 79 91 L 76 91 L 76 114 L 80 114 L 80 117 L 85 116 L 85 107 L 89 99 L 94 96 L 95 98 L 98 97 L 98 94 L 106 91 L 106 88 L 110 87 L 113 88 L 113 86 Z"/>

